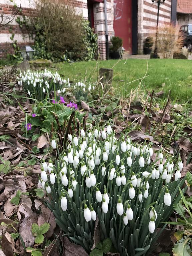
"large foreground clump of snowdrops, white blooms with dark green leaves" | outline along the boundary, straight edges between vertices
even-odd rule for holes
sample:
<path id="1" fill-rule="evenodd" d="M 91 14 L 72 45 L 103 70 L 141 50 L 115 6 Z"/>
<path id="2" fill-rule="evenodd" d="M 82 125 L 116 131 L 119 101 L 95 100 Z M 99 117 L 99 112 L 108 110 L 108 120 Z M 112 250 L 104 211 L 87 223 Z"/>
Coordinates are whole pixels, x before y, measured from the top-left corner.
<path id="1" fill-rule="evenodd" d="M 55 139 L 51 146 L 58 149 Z M 150 144 L 132 142 L 126 134 L 117 139 L 109 124 L 69 134 L 66 150 L 42 162 L 39 179 L 65 235 L 90 252 L 98 218 L 101 240 L 109 237 L 120 255 L 146 255 L 185 181 L 180 157 L 163 164 L 162 150 L 154 162 L 152 155 Z"/>

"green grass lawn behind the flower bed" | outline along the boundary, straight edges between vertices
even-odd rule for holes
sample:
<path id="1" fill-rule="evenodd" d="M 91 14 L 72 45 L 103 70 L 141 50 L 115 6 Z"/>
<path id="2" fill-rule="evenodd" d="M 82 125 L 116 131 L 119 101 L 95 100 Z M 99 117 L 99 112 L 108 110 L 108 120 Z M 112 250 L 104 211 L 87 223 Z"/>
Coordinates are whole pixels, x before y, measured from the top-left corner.
<path id="1" fill-rule="evenodd" d="M 148 63 L 148 71 L 147 71 Z M 180 103 L 191 101 L 192 98 L 192 61 L 177 59 L 128 59 L 108 60 L 108 61 L 89 61 L 75 63 L 57 63 L 55 65 L 59 74 L 69 77 L 70 80 L 79 79 L 95 81 L 99 68 L 113 69 L 113 86 L 119 92 L 131 88 L 136 88 L 140 80 L 147 71 L 147 77 L 143 80 L 148 90 L 155 92 L 163 90 L 165 96 L 171 90 L 171 99 Z M 134 82 L 132 82 L 134 81 Z M 131 82 L 131 83 L 130 83 Z M 162 84 L 165 84 L 162 87 Z"/>

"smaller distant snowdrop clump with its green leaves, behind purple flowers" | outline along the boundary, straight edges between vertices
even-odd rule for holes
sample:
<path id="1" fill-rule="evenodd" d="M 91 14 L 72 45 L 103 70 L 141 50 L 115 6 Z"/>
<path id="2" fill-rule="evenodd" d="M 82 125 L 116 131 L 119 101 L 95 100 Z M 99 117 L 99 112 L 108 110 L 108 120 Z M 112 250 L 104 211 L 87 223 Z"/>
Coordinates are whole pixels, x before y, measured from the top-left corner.
<path id="1" fill-rule="evenodd" d="M 17 83 L 23 86 L 30 98 L 44 100 L 51 91 L 56 91 L 59 95 L 64 93 L 66 87 L 70 87 L 69 78 L 61 79 L 60 75 L 51 71 L 31 71 L 20 73 Z"/>

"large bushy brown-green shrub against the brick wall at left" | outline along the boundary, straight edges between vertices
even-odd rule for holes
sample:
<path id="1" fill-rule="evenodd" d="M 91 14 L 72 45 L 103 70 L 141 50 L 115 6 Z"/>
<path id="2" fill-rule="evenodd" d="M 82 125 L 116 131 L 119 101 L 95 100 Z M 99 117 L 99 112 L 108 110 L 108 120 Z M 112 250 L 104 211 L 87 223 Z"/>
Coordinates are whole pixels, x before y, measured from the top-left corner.
<path id="1" fill-rule="evenodd" d="M 89 60 L 97 54 L 97 36 L 71 6 L 58 2 L 37 2 L 38 17 L 31 21 L 35 30 L 37 58 Z"/>

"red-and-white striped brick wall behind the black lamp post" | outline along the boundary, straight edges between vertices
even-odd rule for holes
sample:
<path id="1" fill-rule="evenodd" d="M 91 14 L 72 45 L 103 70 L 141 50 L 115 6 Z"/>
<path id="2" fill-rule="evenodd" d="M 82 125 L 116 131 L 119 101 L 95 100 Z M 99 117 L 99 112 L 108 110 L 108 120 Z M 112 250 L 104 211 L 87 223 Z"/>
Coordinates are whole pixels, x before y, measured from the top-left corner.
<path id="1" fill-rule="evenodd" d="M 159 10 L 159 26 L 171 21 L 171 0 L 165 0 Z M 157 4 L 151 0 L 138 0 L 138 53 L 143 53 L 146 37 L 155 37 L 157 24 Z"/>

